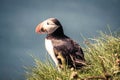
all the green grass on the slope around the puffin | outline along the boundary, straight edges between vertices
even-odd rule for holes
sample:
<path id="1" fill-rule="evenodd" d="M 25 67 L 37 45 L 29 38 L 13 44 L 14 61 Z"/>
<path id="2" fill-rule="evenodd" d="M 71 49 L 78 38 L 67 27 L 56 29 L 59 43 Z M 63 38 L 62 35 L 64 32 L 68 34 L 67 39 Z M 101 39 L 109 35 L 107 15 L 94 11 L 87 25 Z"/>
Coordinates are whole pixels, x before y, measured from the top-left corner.
<path id="1" fill-rule="evenodd" d="M 84 42 L 86 66 L 80 70 L 64 68 L 58 71 L 51 60 L 34 59 L 34 66 L 26 68 L 27 80 L 120 80 L 120 36 L 107 35 Z"/>

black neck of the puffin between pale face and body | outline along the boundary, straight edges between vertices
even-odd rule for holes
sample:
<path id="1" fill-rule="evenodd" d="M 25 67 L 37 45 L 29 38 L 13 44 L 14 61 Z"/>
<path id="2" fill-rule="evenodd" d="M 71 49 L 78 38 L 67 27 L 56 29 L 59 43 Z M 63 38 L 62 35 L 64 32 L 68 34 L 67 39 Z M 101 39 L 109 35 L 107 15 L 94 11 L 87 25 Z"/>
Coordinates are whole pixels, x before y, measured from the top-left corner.
<path id="1" fill-rule="evenodd" d="M 65 38 L 65 37 L 67 36 L 65 36 L 62 26 L 60 26 L 53 33 L 47 35 L 47 38 Z"/>

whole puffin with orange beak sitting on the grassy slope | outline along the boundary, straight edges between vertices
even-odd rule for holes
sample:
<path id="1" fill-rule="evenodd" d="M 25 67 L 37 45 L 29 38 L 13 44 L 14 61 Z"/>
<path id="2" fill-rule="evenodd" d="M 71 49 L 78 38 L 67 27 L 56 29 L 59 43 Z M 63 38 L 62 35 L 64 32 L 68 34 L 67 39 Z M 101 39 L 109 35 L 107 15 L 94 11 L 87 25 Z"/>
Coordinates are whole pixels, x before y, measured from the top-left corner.
<path id="1" fill-rule="evenodd" d="M 48 18 L 42 21 L 37 25 L 35 32 L 47 34 L 45 48 L 58 69 L 63 69 L 66 66 L 80 69 L 85 66 L 82 48 L 64 34 L 63 27 L 58 19 Z"/>

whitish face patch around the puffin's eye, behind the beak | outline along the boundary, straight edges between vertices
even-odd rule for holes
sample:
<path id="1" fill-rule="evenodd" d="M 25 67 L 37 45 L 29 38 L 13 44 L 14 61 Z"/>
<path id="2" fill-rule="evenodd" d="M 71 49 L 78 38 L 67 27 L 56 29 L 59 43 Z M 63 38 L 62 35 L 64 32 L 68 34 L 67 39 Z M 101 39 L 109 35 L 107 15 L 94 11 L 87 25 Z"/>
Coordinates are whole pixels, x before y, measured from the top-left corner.
<path id="1" fill-rule="evenodd" d="M 53 33 L 59 26 L 52 21 L 44 21 L 43 28 L 47 30 L 47 34 Z"/>

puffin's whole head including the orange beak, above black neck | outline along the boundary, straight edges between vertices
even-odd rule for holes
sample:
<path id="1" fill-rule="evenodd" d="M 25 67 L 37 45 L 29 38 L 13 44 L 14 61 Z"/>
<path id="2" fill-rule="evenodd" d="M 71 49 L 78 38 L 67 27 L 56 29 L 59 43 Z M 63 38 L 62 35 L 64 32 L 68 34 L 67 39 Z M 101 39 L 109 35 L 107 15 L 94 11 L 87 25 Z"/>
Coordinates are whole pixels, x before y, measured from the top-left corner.
<path id="1" fill-rule="evenodd" d="M 39 34 L 51 34 L 61 27 L 56 18 L 49 18 L 37 25 L 35 32 Z"/>

